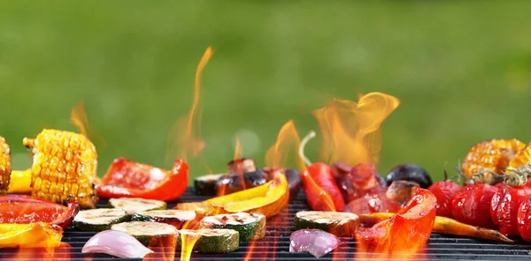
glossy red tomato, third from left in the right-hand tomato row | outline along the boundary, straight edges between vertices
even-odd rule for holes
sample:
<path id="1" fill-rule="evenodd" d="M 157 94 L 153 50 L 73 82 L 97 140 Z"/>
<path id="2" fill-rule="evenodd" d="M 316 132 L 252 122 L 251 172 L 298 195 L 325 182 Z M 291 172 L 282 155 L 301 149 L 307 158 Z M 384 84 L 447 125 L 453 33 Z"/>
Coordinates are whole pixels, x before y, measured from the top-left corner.
<path id="1" fill-rule="evenodd" d="M 507 235 L 519 235 L 517 216 L 519 205 L 531 196 L 531 188 L 504 187 L 498 189 L 490 201 L 490 218 L 498 230 Z"/>

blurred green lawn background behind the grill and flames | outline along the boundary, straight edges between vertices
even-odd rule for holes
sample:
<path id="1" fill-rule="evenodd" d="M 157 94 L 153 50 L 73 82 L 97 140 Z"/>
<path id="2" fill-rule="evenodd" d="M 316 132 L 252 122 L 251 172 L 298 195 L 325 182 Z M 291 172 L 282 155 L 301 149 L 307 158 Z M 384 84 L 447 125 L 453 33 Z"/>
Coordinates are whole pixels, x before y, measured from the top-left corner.
<path id="1" fill-rule="evenodd" d="M 76 130 L 83 101 L 103 175 L 115 157 L 170 167 L 166 143 L 203 75 L 203 160 L 226 170 L 235 134 L 263 165 L 280 127 L 317 129 L 311 111 L 381 91 L 402 104 L 382 126 L 380 173 L 413 162 L 439 180 L 476 142 L 531 142 L 531 2 L 4 1 L 0 134 Z M 318 142 L 308 148 L 318 157 Z M 190 179 L 190 183 L 192 180 Z"/>

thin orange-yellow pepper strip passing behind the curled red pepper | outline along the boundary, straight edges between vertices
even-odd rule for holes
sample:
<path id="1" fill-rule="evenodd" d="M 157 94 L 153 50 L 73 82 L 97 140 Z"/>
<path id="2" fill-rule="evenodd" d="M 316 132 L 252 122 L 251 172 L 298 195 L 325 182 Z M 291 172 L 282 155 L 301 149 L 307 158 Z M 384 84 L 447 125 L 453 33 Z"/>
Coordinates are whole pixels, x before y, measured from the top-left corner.
<path id="1" fill-rule="evenodd" d="M 391 218 L 394 213 L 389 212 L 377 212 L 371 214 L 359 215 L 359 219 L 364 226 L 373 225 L 381 222 L 385 219 Z M 437 234 L 453 234 L 460 236 L 469 236 L 475 238 L 489 239 L 499 242 L 513 243 L 513 241 L 507 238 L 504 234 L 501 234 L 497 230 L 483 228 L 480 226 L 470 226 L 459 222 L 455 219 L 446 217 L 435 217 L 435 223 L 432 229 L 433 233 Z"/>

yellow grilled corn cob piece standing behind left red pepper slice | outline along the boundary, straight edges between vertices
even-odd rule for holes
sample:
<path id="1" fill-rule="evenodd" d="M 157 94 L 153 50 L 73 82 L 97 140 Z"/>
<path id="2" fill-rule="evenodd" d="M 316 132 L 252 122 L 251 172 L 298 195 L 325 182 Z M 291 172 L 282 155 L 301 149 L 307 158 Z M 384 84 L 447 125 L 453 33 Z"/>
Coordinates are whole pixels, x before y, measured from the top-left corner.
<path id="1" fill-rule="evenodd" d="M 44 129 L 35 139 L 24 138 L 34 154 L 32 196 L 63 203 L 73 196 L 82 208 L 96 206 L 96 147 L 83 134 Z"/>

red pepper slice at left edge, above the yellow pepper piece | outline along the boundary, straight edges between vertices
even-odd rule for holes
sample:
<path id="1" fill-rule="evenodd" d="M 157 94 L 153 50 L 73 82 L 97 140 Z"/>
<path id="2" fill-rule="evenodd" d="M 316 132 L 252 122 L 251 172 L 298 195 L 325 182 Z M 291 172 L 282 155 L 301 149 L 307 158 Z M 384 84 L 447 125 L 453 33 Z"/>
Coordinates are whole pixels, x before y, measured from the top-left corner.
<path id="1" fill-rule="evenodd" d="M 45 222 L 65 228 L 78 211 L 79 204 L 73 199 L 68 199 L 64 206 L 31 196 L 0 196 L 0 223 Z"/>

